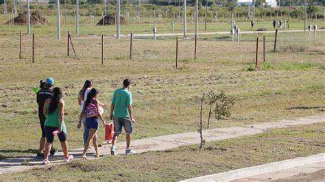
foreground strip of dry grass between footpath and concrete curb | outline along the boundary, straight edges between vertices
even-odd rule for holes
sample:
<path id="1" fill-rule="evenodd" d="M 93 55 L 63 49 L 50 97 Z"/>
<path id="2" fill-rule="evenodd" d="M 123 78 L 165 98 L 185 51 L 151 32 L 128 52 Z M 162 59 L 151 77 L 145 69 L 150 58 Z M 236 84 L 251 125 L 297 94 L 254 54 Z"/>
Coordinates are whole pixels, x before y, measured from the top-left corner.
<path id="1" fill-rule="evenodd" d="M 0 175 L 0 181 L 178 181 L 274 161 L 325 152 L 325 122 L 289 129 L 272 129 L 240 139 L 209 142 L 142 155 L 79 160 Z"/>

